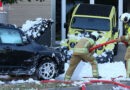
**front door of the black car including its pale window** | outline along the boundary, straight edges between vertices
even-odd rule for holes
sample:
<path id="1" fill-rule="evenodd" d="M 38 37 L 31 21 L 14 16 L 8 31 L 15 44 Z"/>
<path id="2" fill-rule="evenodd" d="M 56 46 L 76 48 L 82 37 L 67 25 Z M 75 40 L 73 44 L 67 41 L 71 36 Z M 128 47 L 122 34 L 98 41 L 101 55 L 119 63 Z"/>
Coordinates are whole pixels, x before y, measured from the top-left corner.
<path id="1" fill-rule="evenodd" d="M 21 33 L 15 29 L 0 28 L 0 65 L 6 68 L 29 66 L 33 57 L 33 47 L 23 45 Z"/>

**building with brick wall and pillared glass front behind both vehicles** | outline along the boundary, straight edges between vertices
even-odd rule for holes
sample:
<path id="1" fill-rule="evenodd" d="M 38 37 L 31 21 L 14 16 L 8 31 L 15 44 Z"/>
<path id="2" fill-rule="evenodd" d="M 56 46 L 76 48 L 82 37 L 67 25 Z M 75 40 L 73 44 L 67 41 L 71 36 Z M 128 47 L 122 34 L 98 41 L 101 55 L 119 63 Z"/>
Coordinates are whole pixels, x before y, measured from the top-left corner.
<path id="1" fill-rule="evenodd" d="M 38 17 L 52 18 L 54 20 L 52 42 L 55 44 L 55 41 L 66 38 L 68 30 L 64 28 L 64 23 L 69 23 L 71 12 L 79 3 L 114 5 L 117 10 L 117 19 L 123 12 L 130 12 L 130 0 L 45 0 L 44 2 L 23 0 L 8 6 L 8 23 L 21 26 L 26 20 L 35 20 Z M 121 36 L 122 22 L 118 21 Z"/>

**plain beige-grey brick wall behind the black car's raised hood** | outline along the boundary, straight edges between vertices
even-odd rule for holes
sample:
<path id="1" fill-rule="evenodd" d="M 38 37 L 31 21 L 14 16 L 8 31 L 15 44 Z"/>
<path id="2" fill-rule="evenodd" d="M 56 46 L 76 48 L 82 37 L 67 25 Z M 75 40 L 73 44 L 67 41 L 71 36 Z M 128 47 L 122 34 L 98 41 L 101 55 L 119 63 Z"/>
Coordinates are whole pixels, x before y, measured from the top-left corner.
<path id="1" fill-rule="evenodd" d="M 8 6 L 9 24 L 21 26 L 26 20 L 35 20 L 38 17 L 51 18 L 51 0 L 44 2 L 23 0 Z"/>

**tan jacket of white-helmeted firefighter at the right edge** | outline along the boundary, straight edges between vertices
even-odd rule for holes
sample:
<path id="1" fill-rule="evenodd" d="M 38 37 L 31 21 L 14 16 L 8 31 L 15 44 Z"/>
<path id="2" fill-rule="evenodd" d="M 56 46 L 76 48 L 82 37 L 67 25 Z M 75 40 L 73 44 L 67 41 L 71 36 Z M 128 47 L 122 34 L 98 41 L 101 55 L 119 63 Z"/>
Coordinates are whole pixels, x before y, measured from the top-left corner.
<path id="1" fill-rule="evenodd" d="M 120 37 L 120 40 L 126 41 L 128 43 L 128 47 L 125 54 L 125 60 L 129 60 L 130 59 L 130 33 L 128 33 L 125 36 Z"/>

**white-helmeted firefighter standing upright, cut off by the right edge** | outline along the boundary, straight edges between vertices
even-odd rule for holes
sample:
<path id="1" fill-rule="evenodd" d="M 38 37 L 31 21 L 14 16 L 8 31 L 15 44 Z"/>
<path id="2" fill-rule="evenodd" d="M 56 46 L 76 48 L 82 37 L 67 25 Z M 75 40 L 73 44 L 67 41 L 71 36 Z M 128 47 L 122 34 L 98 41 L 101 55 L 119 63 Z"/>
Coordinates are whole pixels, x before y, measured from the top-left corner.
<path id="1" fill-rule="evenodd" d="M 118 42 L 127 42 L 127 50 L 125 54 L 126 77 L 130 78 L 130 14 L 124 13 L 121 15 L 121 21 L 125 24 L 125 36 L 121 36 Z"/>

